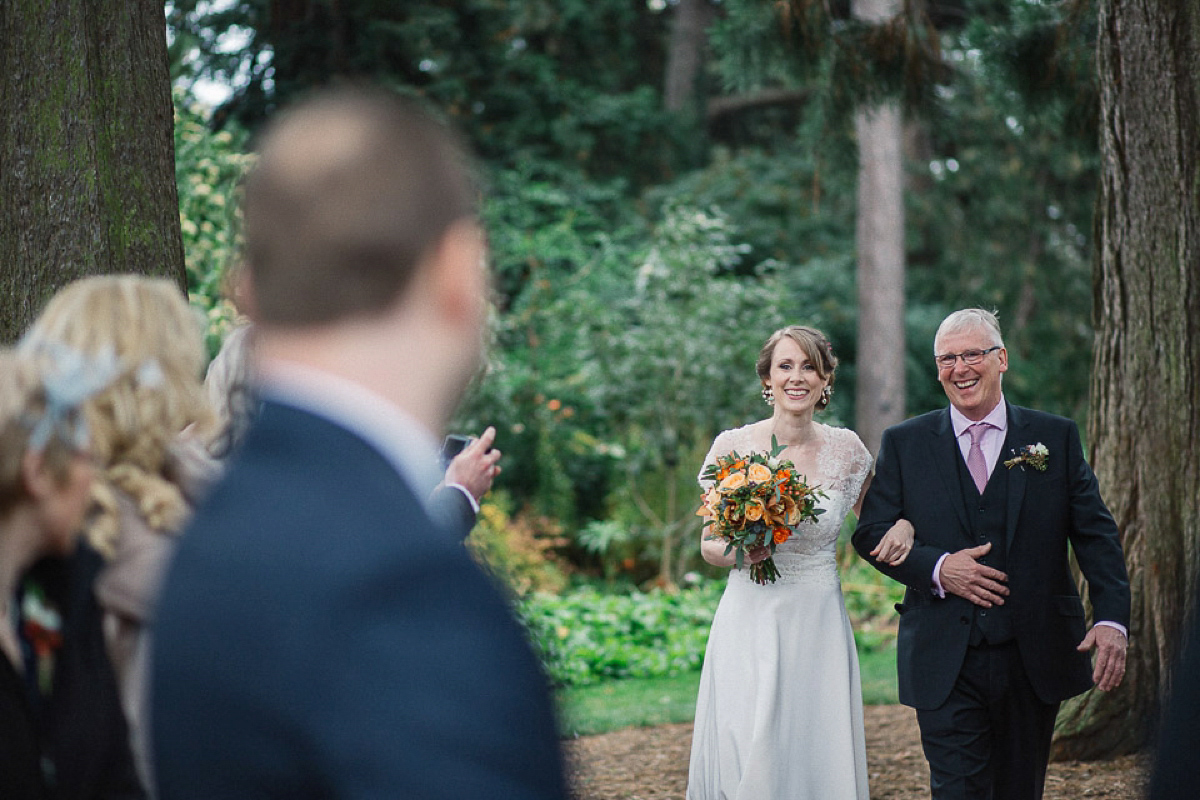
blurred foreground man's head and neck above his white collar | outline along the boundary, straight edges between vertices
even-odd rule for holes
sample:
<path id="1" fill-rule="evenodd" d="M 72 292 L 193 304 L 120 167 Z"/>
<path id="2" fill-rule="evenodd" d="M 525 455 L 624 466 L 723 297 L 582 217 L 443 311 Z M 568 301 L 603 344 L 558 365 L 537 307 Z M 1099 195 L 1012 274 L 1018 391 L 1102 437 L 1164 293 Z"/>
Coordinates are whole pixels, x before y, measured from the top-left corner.
<path id="1" fill-rule="evenodd" d="M 413 101 L 337 90 L 280 115 L 246 182 L 259 366 L 341 375 L 439 429 L 481 350 L 476 196 L 457 137 Z"/>

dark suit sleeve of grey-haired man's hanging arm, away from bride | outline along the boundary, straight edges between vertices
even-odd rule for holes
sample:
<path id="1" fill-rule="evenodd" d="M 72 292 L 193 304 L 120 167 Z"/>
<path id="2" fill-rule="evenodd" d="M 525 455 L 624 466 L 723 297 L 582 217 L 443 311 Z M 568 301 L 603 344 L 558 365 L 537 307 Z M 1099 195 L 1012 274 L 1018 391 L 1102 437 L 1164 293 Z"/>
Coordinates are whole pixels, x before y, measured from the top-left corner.
<path id="1" fill-rule="evenodd" d="M 1117 524 L 1100 498 L 1099 483 L 1084 458 L 1079 428 L 1069 423 L 1067 471 L 1070 492 L 1070 546 L 1087 579 L 1094 619 L 1129 627 L 1129 576 Z"/>

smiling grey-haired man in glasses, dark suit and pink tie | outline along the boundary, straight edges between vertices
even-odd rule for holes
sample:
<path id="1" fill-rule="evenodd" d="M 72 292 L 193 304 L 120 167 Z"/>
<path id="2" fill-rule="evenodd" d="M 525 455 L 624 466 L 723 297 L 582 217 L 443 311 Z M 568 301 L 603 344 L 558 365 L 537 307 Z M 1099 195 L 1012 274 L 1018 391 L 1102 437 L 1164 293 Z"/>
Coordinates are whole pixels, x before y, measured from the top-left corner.
<path id="1" fill-rule="evenodd" d="M 1124 560 L 1075 423 L 1004 399 L 995 315 L 950 314 L 934 354 L 950 405 L 884 432 L 853 543 L 907 588 L 900 702 L 917 709 L 932 796 L 1031 800 L 1058 704 L 1121 682 Z M 890 566 L 871 551 L 900 518 L 917 541 Z M 1091 630 L 1068 546 L 1087 579 Z"/>

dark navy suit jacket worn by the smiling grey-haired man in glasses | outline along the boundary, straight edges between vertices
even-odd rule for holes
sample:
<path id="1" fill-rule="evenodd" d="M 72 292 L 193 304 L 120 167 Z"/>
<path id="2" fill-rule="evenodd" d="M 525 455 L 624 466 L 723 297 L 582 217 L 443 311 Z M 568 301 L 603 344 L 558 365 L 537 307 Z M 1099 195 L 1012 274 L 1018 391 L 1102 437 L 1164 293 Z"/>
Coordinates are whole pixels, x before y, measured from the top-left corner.
<path id="1" fill-rule="evenodd" d="M 1037 443 L 1049 450 L 1046 470 L 1014 467 L 1008 474 L 1006 606 L 1033 691 L 1045 703 L 1058 703 L 1092 686 L 1090 655 L 1075 650 L 1086 620 L 1068 543 L 1097 620 L 1128 627 L 1129 581 L 1116 523 L 1072 420 L 1008 405 L 996 470 Z M 896 667 L 900 702 L 917 709 L 935 709 L 949 696 L 971 636 L 970 601 L 949 594 L 938 599 L 932 590 L 937 559 L 978 545 L 959 480 L 961 459 L 948 408 L 884 431 L 853 536 L 864 559 L 907 587 L 898 606 Z M 870 552 L 900 518 L 913 524 L 917 542 L 900 566 L 880 564 Z"/>

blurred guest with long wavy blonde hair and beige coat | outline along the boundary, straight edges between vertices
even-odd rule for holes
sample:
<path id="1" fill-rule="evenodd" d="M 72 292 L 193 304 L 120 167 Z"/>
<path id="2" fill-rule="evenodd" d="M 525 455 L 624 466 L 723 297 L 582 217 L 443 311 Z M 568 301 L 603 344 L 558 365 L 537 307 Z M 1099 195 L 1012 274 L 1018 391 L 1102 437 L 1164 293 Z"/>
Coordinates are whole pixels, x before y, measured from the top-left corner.
<path id="1" fill-rule="evenodd" d="M 199 438 L 212 417 L 200 384 L 200 319 L 166 278 L 106 275 L 61 289 L 23 341 L 115 363 L 112 383 L 83 405 L 100 469 L 85 534 L 108 560 L 96 594 L 134 757 L 149 786 L 146 636 L 175 535 L 216 473 Z M 192 435 L 180 437 L 185 428 Z"/>

